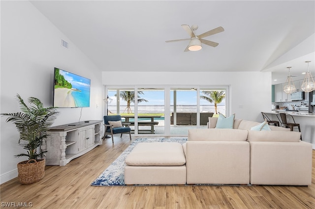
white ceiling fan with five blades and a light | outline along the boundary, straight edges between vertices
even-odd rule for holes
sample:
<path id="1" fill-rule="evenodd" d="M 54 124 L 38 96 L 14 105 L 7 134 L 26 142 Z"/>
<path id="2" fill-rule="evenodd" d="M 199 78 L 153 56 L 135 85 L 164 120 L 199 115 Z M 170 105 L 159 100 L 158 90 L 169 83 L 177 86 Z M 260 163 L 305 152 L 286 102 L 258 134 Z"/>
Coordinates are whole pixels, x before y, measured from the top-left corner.
<path id="1" fill-rule="evenodd" d="M 198 29 L 197 25 L 192 25 L 191 28 L 190 28 L 189 25 L 182 25 L 182 27 L 184 28 L 184 30 L 186 30 L 188 32 L 188 34 L 190 36 L 190 39 L 189 38 L 187 38 L 187 39 L 178 39 L 178 40 L 170 40 L 170 41 L 165 41 L 165 42 L 168 43 L 168 42 L 175 42 L 175 41 L 187 41 L 187 40 L 190 40 L 189 44 L 186 47 L 186 49 L 184 50 L 184 52 L 201 50 L 201 48 L 202 48 L 201 43 L 206 44 L 206 45 L 211 46 L 211 47 L 218 46 L 219 43 L 216 43 L 216 42 L 213 42 L 213 41 L 209 41 L 209 40 L 205 40 L 205 39 L 202 39 L 202 38 L 207 37 L 207 36 L 211 36 L 211 35 L 214 35 L 214 34 L 217 34 L 217 33 L 220 33 L 220 32 L 224 31 L 224 28 L 220 26 L 220 27 L 217 27 L 215 29 L 209 30 L 208 32 L 202 33 L 201 35 L 196 35 L 195 31 L 196 31 L 196 29 Z"/>

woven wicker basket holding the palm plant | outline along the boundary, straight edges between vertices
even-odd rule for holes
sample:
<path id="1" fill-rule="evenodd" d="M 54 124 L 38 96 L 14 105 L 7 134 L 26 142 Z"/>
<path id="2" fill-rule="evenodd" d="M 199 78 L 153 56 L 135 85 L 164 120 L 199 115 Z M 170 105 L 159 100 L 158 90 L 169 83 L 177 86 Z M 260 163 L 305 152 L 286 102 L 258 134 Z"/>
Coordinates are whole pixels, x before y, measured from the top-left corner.
<path id="1" fill-rule="evenodd" d="M 35 162 L 31 162 L 35 161 Z M 45 176 L 45 159 L 25 160 L 18 163 L 19 180 L 22 184 L 38 182 Z"/>

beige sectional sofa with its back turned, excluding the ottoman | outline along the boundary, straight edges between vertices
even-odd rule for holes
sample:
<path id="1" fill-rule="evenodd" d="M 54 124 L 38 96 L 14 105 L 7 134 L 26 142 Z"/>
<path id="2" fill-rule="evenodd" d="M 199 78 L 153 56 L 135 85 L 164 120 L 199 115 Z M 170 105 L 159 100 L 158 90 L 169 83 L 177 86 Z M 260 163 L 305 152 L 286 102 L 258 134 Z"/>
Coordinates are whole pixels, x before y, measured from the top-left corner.
<path id="1" fill-rule="evenodd" d="M 214 129 L 216 121 L 209 118 L 209 129 L 189 130 L 183 146 L 187 183 L 312 184 L 312 144 L 301 141 L 300 132 L 275 126 L 252 131 L 260 123 L 241 119 L 234 129 Z"/>

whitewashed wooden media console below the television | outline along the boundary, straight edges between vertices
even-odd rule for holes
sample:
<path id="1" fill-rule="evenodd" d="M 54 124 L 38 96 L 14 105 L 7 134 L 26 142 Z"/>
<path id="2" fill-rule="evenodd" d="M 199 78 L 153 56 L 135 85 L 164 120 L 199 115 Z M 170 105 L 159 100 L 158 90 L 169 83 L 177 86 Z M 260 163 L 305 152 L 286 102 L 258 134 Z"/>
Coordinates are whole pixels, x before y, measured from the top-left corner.
<path id="1" fill-rule="evenodd" d="M 102 144 L 103 121 L 95 120 L 55 126 L 41 149 L 47 151 L 46 165 L 64 166 Z"/>

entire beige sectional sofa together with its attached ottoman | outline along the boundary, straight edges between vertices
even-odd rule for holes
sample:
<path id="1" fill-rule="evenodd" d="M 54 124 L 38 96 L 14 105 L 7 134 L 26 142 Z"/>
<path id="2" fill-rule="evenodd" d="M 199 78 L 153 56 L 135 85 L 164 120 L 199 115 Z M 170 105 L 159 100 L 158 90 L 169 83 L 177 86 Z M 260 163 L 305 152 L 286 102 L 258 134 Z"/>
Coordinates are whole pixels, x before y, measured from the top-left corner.
<path id="1" fill-rule="evenodd" d="M 260 123 L 240 119 L 234 129 L 214 129 L 216 120 L 189 130 L 183 152 L 167 142 L 140 145 L 126 158 L 125 183 L 311 185 L 312 145 L 300 132 L 252 131 Z"/>

